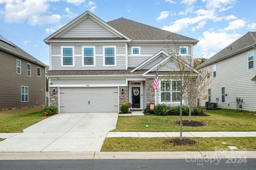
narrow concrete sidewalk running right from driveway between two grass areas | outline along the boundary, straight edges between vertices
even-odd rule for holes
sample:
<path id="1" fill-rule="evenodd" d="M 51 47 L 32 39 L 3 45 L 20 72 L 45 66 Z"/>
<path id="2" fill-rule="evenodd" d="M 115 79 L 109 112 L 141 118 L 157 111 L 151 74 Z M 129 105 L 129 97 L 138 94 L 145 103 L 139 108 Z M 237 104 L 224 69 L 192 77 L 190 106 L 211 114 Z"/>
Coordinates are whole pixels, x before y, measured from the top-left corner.
<path id="1" fill-rule="evenodd" d="M 184 137 L 256 137 L 256 132 L 183 132 Z M 179 137 L 180 132 L 108 132 L 107 137 Z"/>

